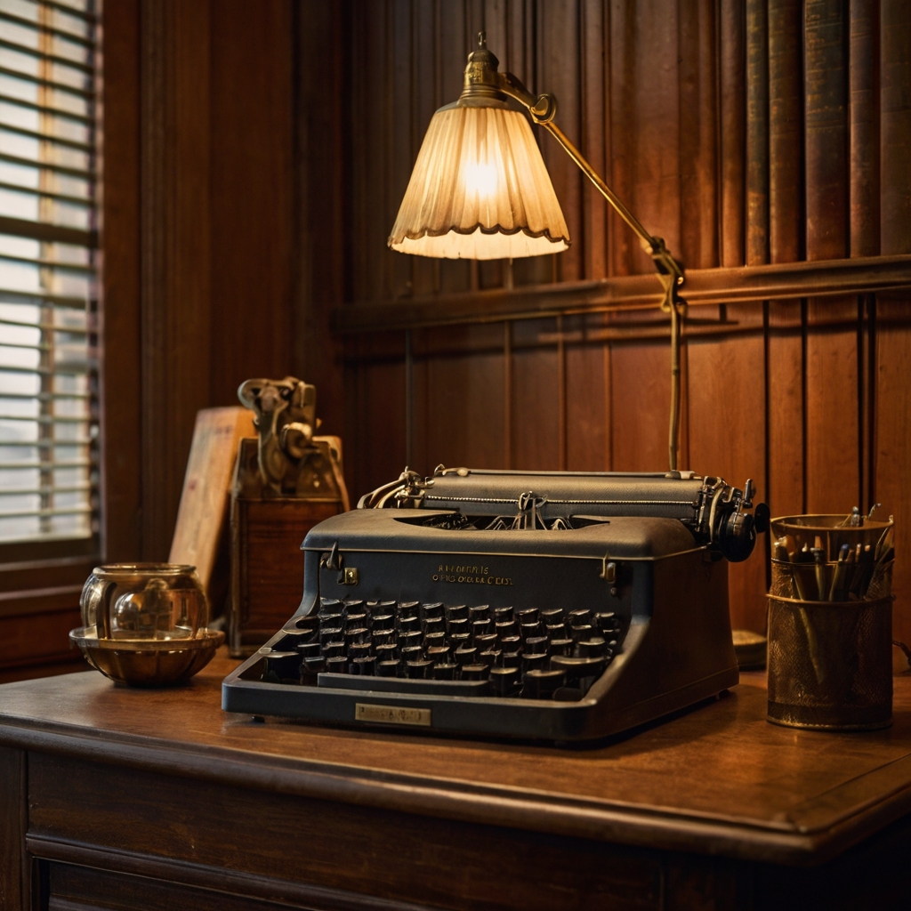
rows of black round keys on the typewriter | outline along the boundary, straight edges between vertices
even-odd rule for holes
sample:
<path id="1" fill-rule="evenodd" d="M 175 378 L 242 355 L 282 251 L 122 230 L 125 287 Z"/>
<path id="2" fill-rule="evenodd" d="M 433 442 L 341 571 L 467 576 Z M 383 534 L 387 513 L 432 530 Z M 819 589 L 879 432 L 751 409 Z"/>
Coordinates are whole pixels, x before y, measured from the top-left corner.
<path id="1" fill-rule="evenodd" d="M 322 599 L 261 650 L 262 680 L 577 701 L 619 650 L 621 630 L 616 614 L 588 608 Z"/>

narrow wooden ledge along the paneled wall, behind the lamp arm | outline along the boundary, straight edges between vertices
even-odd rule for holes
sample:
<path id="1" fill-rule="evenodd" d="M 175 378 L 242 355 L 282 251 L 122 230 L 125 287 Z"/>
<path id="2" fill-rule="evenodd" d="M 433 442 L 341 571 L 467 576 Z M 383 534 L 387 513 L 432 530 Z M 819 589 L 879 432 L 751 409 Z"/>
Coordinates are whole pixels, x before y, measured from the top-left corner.
<path id="1" fill-rule="evenodd" d="M 903 288 L 911 288 L 911 255 L 691 269 L 686 273 L 682 296 L 691 306 L 704 306 Z M 347 304 L 333 310 L 332 328 L 335 333 L 370 333 L 558 314 L 652 309 L 660 304 L 660 299 L 660 286 L 653 275 L 624 275 L 600 281 L 564 281 L 509 290 L 497 288 L 394 302 Z"/>

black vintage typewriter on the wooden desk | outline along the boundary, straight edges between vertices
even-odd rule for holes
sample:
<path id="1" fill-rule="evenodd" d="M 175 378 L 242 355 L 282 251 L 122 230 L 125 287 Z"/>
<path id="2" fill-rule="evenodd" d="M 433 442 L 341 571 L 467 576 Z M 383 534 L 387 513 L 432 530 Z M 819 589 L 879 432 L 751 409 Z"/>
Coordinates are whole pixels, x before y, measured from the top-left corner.
<path id="1" fill-rule="evenodd" d="M 226 711 L 570 742 L 738 681 L 727 560 L 768 509 L 692 472 L 406 471 L 303 542 Z"/>

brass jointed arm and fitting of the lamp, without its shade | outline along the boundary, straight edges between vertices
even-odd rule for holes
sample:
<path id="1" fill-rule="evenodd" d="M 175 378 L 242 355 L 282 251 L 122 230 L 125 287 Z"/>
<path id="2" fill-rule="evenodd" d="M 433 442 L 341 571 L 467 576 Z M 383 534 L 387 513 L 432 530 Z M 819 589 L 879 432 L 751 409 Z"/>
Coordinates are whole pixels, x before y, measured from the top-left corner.
<path id="1" fill-rule="evenodd" d="M 670 470 L 677 469 L 677 447 L 680 433 L 680 344 L 681 319 L 686 315 L 686 302 L 680 297 L 678 289 L 683 284 L 683 265 L 668 251 L 660 237 L 652 236 L 642 226 L 639 219 L 619 200 L 617 194 L 601 179 L 591 167 L 585 156 L 567 138 L 566 134 L 554 123 L 557 114 L 557 99 L 547 93 L 534 95 L 522 85 L 512 73 L 497 71 L 499 61 L 486 46 L 486 33 L 479 32 L 477 49 L 468 55 L 465 70 L 465 85 L 456 105 L 458 107 L 496 107 L 498 103 L 506 104 L 507 98 L 516 100 L 525 107 L 528 116 L 539 127 L 545 128 L 551 136 L 566 150 L 569 158 L 598 188 L 601 195 L 608 200 L 620 218 L 623 219 L 640 240 L 642 249 L 649 254 L 658 271 L 658 280 L 664 291 L 661 310 L 670 313 L 670 433 L 668 449 Z"/>

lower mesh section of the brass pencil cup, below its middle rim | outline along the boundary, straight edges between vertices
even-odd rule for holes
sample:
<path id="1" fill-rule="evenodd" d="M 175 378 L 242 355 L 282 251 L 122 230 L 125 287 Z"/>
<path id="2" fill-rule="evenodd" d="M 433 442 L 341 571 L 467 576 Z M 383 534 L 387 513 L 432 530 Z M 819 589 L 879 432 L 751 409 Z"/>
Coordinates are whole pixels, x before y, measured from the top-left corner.
<path id="1" fill-rule="evenodd" d="M 888 727 L 892 600 L 769 595 L 769 721 L 826 731 Z"/>

